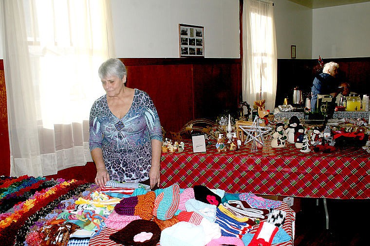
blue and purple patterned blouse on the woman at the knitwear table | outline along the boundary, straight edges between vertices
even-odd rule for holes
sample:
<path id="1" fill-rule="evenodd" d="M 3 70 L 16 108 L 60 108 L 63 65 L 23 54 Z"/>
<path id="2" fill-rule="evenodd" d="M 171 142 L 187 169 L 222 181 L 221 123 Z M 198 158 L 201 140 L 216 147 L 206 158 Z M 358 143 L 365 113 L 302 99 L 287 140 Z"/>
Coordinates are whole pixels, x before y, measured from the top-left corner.
<path id="1" fill-rule="evenodd" d="M 90 151 L 102 149 L 111 180 L 147 180 L 152 139 L 162 141 L 162 127 L 153 101 L 145 91 L 135 89 L 132 105 L 122 119 L 109 109 L 107 95 L 92 105 Z"/>

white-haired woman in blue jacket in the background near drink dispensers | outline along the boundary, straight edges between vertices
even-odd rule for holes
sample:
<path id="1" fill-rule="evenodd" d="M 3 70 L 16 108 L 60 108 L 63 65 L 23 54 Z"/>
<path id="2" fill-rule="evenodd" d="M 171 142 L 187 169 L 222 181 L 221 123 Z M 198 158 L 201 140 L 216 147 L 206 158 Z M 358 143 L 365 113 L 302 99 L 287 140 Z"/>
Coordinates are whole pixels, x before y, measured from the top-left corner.
<path id="1" fill-rule="evenodd" d="M 311 88 L 311 111 L 315 110 L 317 94 L 332 95 L 335 98 L 338 95 L 338 82 L 335 77 L 338 74 L 339 65 L 335 62 L 328 62 L 324 65 L 322 73 L 314 78 Z M 335 99 L 334 99 L 335 102 Z"/>

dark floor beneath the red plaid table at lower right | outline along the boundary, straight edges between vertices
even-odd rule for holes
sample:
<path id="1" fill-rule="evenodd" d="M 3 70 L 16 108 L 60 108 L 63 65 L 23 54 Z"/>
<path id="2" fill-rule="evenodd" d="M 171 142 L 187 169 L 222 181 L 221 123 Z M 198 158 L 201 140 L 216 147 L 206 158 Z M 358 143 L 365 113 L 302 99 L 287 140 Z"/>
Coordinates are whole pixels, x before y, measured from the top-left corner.
<path id="1" fill-rule="evenodd" d="M 323 199 L 302 198 L 296 213 L 295 246 L 369 246 L 370 200 L 327 199 L 329 229 Z M 360 221 L 358 224 L 356 221 Z"/>

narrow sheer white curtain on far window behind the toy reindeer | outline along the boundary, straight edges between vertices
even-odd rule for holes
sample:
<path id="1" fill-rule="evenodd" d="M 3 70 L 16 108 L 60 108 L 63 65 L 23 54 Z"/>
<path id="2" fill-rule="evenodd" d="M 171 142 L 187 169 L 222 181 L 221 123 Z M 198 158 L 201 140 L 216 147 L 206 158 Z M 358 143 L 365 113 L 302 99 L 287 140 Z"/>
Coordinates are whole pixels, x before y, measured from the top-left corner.
<path id="1" fill-rule="evenodd" d="M 264 0 L 244 0 L 243 4 L 243 101 L 251 106 L 265 99 L 265 109 L 273 112 L 277 84 L 277 48 L 274 7 Z"/>

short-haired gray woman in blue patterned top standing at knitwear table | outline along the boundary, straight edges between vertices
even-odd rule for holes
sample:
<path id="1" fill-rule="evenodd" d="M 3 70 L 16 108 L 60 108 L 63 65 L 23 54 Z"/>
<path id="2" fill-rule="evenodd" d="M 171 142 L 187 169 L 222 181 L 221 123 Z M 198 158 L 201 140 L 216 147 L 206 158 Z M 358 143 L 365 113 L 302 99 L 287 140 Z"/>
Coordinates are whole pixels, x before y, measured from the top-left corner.
<path id="1" fill-rule="evenodd" d="M 162 127 L 148 94 L 125 86 L 127 70 L 111 58 L 99 68 L 106 94 L 90 111 L 90 151 L 96 165 L 95 183 L 108 180 L 140 182 L 158 187 Z"/>

